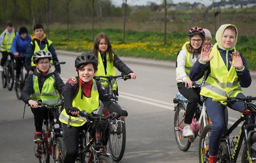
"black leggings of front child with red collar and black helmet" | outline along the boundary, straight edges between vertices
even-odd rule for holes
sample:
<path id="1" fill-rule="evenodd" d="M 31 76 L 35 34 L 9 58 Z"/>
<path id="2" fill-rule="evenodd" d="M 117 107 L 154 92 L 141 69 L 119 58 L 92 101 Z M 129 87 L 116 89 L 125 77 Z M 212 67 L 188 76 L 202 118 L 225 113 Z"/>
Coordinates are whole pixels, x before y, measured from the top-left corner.
<path id="1" fill-rule="evenodd" d="M 102 124 L 104 125 L 106 123 L 102 123 Z M 74 126 L 67 127 L 67 124 L 63 124 L 64 143 L 65 143 L 65 147 L 66 147 L 66 156 L 63 160 L 63 163 L 74 163 L 75 162 L 75 160 L 78 156 L 80 131 L 82 131 L 82 130 L 87 131 L 88 128 L 91 129 L 91 127 L 90 127 L 91 125 L 92 125 L 92 123 L 89 123 L 89 122 L 87 122 L 83 126 L 79 126 L 79 127 L 74 127 Z M 105 127 L 105 129 L 106 129 L 106 127 Z M 94 137 L 93 133 L 91 133 L 90 135 Z M 109 136 L 109 129 L 107 128 L 105 130 L 105 139 L 102 142 L 103 145 L 107 145 L 108 136 Z"/>

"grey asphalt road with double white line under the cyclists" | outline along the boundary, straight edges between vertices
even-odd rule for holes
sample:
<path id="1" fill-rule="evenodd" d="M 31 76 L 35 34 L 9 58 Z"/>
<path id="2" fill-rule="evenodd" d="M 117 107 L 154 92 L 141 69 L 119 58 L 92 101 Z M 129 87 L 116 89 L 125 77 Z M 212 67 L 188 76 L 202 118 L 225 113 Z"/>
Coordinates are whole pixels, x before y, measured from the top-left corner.
<path id="1" fill-rule="evenodd" d="M 76 75 L 75 55 L 79 53 L 58 52 L 64 81 Z M 174 104 L 172 99 L 178 91 L 173 62 L 146 59 L 123 58 L 122 60 L 136 73 L 136 80 L 118 81 L 119 104 L 128 111 L 126 118 L 126 150 L 121 163 L 187 163 L 198 162 L 196 138 L 187 152 L 179 150 L 173 133 Z M 34 121 L 24 102 L 17 100 L 15 92 L 2 88 L 0 81 L 0 162 L 37 162 L 34 156 Z M 256 96 L 256 80 L 245 95 Z M 240 114 L 229 109 L 229 124 Z M 234 133 L 234 134 L 237 134 Z M 52 157 L 50 157 L 52 160 Z M 53 161 L 51 161 L 53 162 Z"/>

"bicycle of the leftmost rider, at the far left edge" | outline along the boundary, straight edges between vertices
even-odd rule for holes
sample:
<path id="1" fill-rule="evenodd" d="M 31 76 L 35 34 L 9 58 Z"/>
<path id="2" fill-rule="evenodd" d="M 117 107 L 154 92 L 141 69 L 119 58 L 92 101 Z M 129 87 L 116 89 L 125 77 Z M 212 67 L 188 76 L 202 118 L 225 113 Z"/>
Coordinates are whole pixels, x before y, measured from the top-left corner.
<path id="1" fill-rule="evenodd" d="M 7 89 L 11 91 L 14 84 L 14 68 L 10 55 L 8 55 L 7 60 L 4 63 L 1 78 L 3 88 L 7 87 Z"/>

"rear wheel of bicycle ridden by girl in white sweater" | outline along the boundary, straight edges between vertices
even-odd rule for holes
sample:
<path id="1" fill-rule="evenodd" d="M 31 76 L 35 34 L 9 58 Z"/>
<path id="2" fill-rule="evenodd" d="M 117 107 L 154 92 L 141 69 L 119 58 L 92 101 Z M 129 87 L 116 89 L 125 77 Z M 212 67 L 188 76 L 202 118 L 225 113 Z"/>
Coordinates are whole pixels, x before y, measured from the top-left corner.
<path id="1" fill-rule="evenodd" d="M 177 142 L 178 147 L 180 148 L 181 151 L 187 151 L 191 145 L 191 142 L 189 142 L 188 138 L 182 136 L 182 132 L 180 130 L 178 130 L 178 124 L 181 121 L 181 119 L 183 118 L 183 116 L 185 116 L 185 112 L 186 112 L 186 108 L 183 104 L 179 103 L 176 106 L 176 111 L 175 111 L 175 115 L 174 115 L 174 135 L 175 135 L 175 139 Z M 183 128 L 185 126 L 184 121 L 182 122 L 182 124 L 180 125 L 181 128 Z"/>

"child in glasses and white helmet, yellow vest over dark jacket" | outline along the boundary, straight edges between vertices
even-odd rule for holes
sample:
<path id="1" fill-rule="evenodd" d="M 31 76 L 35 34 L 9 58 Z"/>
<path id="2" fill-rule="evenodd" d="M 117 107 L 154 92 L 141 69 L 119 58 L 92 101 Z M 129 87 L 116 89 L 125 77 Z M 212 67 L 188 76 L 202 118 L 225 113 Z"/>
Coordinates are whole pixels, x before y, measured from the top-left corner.
<path id="1" fill-rule="evenodd" d="M 34 114 L 36 130 L 34 142 L 36 143 L 42 142 L 43 119 L 48 114 L 48 110 L 45 107 L 37 107 L 37 101 L 42 101 L 49 105 L 57 103 L 60 100 L 59 93 L 63 94 L 65 86 L 58 73 L 54 72 L 54 68 L 50 64 L 51 59 L 52 55 L 49 51 L 40 50 L 33 54 L 33 63 L 36 69 L 33 74 L 28 76 L 21 92 L 22 100 L 31 105 L 31 111 Z M 50 110 L 49 113 L 52 115 L 50 118 L 53 118 Z"/>

